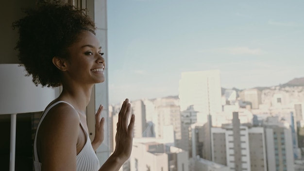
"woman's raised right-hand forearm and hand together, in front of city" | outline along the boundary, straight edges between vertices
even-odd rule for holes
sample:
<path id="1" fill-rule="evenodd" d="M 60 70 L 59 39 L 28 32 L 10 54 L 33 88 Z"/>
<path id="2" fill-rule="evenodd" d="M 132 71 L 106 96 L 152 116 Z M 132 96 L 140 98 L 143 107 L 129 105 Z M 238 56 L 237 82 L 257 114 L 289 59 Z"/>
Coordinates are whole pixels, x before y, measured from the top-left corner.
<path id="1" fill-rule="evenodd" d="M 130 157 L 135 123 L 135 115 L 132 115 L 128 126 L 130 111 L 131 104 L 129 103 L 129 100 L 126 99 L 118 114 L 115 151 L 107 161 L 105 161 L 99 171 L 118 171 L 124 162 Z"/>

